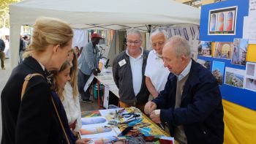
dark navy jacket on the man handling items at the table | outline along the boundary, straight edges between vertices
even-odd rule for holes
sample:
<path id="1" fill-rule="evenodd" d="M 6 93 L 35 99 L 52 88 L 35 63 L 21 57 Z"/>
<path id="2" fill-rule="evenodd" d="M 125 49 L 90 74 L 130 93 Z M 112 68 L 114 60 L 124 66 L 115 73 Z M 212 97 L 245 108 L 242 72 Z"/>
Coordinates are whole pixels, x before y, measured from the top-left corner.
<path id="1" fill-rule="evenodd" d="M 222 96 L 215 77 L 192 60 L 181 96 L 181 107 L 175 109 L 176 84 L 176 75 L 170 73 L 165 89 L 153 100 L 157 109 L 161 109 L 162 123 L 169 125 L 173 135 L 176 126 L 183 125 L 188 143 L 223 143 Z"/>

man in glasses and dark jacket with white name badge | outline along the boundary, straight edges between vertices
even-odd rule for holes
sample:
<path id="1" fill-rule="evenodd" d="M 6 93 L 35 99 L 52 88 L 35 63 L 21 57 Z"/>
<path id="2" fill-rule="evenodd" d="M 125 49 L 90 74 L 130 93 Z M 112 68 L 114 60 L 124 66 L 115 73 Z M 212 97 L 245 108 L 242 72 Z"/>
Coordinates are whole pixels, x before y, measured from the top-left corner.
<path id="1" fill-rule="evenodd" d="M 113 79 L 119 88 L 120 107 L 135 106 L 143 111 L 149 95 L 144 76 L 148 50 L 143 50 L 141 44 L 140 31 L 129 29 L 127 50 L 113 61 Z"/>

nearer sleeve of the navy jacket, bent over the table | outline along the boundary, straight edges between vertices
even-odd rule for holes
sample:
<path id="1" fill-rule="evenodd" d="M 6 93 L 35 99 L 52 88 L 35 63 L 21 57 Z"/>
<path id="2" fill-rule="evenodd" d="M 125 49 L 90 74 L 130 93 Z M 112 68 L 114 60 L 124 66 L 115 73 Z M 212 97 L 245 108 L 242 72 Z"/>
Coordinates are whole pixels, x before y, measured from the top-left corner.
<path id="1" fill-rule="evenodd" d="M 207 77 L 208 78 L 208 77 Z M 208 118 L 222 101 L 216 80 L 206 80 L 190 88 L 187 96 L 192 100 L 184 107 L 161 110 L 160 119 L 173 126 L 200 123 Z"/>

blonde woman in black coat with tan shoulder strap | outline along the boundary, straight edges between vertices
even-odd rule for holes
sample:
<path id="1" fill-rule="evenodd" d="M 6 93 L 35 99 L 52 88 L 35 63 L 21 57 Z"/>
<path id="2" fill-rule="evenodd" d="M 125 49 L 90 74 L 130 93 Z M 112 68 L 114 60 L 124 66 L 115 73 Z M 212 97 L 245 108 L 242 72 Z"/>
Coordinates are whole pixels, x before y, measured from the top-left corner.
<path id="1" fill-rule="evenodd" d="M 38 18 L 32 43 L 23 63 L 12 74 L 1 92 L 1 143 L 65 143 L 61 124 L 51 101 L 48 71 L 59 70 L 71 49 L 73 32 L 56 18 Z M 21 99 L 24 78 L 32 77 Z M 56 102 L 55 102 L 56 103 Z M 60 111 L 59 111 L 60 113 Z M 76 143 L 79 143 L 78 140 Z M 85 143 L 85 142 L 81 142 Z"/>

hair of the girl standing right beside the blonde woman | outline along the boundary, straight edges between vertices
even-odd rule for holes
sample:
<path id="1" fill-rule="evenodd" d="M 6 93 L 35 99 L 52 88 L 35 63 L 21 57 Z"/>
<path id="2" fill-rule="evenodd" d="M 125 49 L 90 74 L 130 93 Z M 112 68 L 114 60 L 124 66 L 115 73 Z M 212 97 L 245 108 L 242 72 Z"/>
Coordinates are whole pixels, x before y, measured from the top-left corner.
<path id="1" fill-rule="evenodd" d="M 70 65 L 69 61 L 65 61 L 64 64 L 62 64 L 61 69 L 59 69 L 59 71 L 51 72 L 53 74 L 53 82 L 55 85 L 55 91 L 59 95 L 59 99 L 61 99 L 61 101 L 64 100 L 64 95 L 63 95 L 64 88 L 60 88 L 58 86 L 58 84 L 56 83 L 56 79 L 60 72 L 64 71 L 65 69 L 68 69 L 68 68 L 70 69 L 71 65 Z"/>

